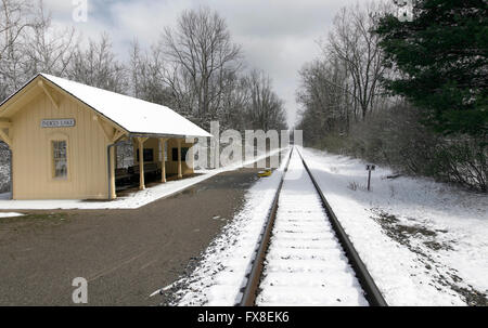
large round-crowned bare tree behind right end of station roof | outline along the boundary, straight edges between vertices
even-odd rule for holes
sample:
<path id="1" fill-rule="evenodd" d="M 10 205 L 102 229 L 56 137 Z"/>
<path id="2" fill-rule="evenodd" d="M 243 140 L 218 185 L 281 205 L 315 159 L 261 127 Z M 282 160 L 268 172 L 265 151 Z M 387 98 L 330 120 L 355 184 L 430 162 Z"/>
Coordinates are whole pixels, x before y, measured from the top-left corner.
<path id="1" fill-rule="evenodd" d="M 165 80 L 179 109 L 207 124 L 222 105 L 226 77 L 241 66 L 226 21 L 208 8 L 184 11 L 175 29 L 165 29 L 162 45 L 170 61 Z"/>

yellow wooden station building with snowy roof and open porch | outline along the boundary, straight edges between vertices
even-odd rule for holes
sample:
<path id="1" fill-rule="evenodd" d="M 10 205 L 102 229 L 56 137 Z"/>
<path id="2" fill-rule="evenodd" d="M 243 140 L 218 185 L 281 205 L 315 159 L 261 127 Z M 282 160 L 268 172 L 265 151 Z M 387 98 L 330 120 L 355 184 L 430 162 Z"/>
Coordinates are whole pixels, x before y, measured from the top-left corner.
<path id="1" fill-rule="evenodd" d="M 140 189 L 149 171 L 181 179 L 193 173 L 187 139 L 210 136 L 168 107 L 46 74 L 0 104 L 13 199 L 116 198 L 121 141 L 132 141 Z"/>

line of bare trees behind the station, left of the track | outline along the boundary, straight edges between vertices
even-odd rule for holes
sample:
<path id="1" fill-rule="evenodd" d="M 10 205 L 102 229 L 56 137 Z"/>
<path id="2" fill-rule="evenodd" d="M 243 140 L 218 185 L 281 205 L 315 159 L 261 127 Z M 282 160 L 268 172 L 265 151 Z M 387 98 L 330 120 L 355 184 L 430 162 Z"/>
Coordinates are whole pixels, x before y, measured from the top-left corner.
<path id="1" fill-rule="evenodd" d="M 0 0 L 0 101 L 47 73 L 166 105 L 206 129 L 211 120 L 239 131 L 286 128 L 270 78 L 246 67 L 210 9 L 182 12 L 151 47 L 134 39 L 125 57 L 106 34 L 85 40 L 75 28 L 55 28 L 41 1 Z"/>

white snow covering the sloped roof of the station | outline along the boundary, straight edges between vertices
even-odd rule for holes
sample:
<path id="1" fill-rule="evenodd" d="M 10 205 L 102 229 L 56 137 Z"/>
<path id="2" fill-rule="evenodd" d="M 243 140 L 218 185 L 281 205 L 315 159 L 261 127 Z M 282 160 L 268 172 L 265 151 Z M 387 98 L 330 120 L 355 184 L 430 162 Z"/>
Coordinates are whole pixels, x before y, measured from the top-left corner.
<path id="1" fill-rule="evenodd" d="M 40 76 L 77 97 L 130 133 L 211 136 L 210 133 L 166 106 L 89 87 L 48 74 L 40 74 Z"/>

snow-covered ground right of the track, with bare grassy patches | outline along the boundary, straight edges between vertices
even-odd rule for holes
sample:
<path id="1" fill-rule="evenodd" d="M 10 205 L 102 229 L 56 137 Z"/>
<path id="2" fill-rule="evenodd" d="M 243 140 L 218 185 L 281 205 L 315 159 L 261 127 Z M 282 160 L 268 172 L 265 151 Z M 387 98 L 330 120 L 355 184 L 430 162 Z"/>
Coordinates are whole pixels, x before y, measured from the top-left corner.
<path id="1" fill-rule="evenodd" d="M 488 304 L 486 195 L 301 152 L 388 304 Z"/>

